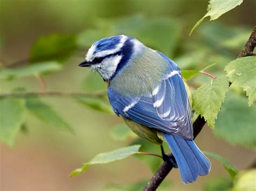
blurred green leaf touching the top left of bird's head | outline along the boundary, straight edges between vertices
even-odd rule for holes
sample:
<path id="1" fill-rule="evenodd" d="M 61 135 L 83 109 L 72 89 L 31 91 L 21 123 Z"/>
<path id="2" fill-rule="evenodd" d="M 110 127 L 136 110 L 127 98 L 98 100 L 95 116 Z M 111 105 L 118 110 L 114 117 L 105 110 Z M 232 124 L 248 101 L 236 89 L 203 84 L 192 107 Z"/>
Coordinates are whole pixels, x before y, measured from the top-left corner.
<path id="1" fill-rule="evenodd" d="M 105 30 L 87 29 L 77 36 L 78 46 L 91 47 L 95 41 L 109 36 Z"/>

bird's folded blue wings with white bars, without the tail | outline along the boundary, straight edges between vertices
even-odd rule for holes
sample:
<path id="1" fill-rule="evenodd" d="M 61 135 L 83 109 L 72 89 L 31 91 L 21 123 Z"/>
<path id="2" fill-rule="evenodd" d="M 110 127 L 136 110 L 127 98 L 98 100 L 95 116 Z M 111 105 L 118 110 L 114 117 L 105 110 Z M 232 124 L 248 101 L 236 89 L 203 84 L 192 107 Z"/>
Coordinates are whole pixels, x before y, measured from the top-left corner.
<path id="1" fill-rule="evenodd" d="M 170 62 L 170 71 L 152 93 L 148 96 L 126 97 L 116 93 L 110 86 L 108 95 L 111 106 L 118 116 L 192 139 L 193 126 L 185 84 L 177 65 L 167 56 L 164 58 Z"/>

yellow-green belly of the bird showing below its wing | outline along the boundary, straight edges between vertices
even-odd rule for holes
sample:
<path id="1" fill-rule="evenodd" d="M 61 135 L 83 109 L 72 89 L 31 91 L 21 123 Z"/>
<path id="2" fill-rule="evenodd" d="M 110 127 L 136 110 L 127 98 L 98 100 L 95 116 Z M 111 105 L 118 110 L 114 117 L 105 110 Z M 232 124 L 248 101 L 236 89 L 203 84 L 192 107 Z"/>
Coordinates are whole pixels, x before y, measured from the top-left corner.
<path id="1" fill-rule="evenodd" d="M 124 122 L 130 127 L 130 129 L 136 133 L 139 137 L 145 138 L 154 144 L 161 144 L 163 141 L 158 137 L 157 130 L 148 128 L 145 125 L 134 122 L 130 119 L 124 118 Z"/>

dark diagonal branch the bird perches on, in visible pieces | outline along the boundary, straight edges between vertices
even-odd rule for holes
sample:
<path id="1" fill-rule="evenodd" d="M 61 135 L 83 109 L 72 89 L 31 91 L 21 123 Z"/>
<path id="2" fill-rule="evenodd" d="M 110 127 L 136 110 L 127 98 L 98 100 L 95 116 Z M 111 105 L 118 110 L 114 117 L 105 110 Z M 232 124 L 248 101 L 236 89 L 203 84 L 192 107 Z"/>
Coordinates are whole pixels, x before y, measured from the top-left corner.
<path id="1" fill-rule="evenodd" d="M 242 51 L 240 52 L 238 58 L 253 55 L 253 50 L 255 46 L 256 46 L 256 26 L 254 27 L 254 30 L 252 31 L 250 38 L 245 44 L 244 49 L 242 49 Z M 193 123 L 194 139 L 198 136 L 201 129 L 203 129 L 203 126 L 205 125 L 205 123 L 206 121 L 204 117 L 201 117 L 200 115 L 198 116 L 196 121 L 194 121 Z M 172 154 L 170 154 L 170 157 L 174 158 Z M 171 165 L 169 162 L 164 161 L 163 164 L 161 164 L 161 166 L 158 168 L 158 171 L 156 172 L 156 174 L 153 175 L 153 177 L 147 183 L 147 185 L 143 190 L 144 191 L 156 190 L 160 185 L 160 183 L 165 179 L 167 174 L 170 173 L 172 168 L 173 168 L 173 165 Z"/>

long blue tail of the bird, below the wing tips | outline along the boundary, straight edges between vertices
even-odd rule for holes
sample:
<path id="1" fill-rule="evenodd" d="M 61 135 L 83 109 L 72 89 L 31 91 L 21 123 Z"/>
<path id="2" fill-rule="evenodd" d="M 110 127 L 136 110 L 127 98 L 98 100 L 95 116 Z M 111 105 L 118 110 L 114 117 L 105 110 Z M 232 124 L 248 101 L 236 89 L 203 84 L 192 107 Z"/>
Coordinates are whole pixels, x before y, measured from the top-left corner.
<path id="1" fill-rule="evenodd" d="M 168 133 L 163 135 L 177 161 L 180 177 L 184 183 L 194 182 L 199 175 L 210 172 L 210 161 L 193 140 L 186 140 Z"/>

